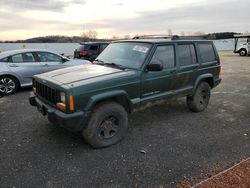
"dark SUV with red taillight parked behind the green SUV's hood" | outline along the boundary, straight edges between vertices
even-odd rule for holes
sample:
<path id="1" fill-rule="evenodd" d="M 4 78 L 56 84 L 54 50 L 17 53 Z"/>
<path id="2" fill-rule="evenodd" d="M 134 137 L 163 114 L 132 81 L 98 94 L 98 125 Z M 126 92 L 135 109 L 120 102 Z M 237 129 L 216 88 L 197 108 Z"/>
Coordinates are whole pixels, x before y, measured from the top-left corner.
<path id="1" fill-rule="evenodd" d="M 109 45 L 108 42 L 84 42 L 74 51 L 74 58 L 93 61 Z"/>

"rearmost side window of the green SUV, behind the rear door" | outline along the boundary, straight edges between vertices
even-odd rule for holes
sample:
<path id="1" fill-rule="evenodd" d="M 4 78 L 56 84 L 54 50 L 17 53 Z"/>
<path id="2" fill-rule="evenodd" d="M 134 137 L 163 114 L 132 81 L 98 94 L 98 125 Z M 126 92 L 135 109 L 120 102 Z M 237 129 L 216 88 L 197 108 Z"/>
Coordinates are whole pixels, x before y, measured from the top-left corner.
<path id="1" fill-rule="evenodd" d="M 201 61 L 203 63 L 216 60 L 216 56 L 215 56 L 214 48 L 212 44 L 201 43 L 201 44 L 198 44 L 198 48 L 201 54 Z"/>

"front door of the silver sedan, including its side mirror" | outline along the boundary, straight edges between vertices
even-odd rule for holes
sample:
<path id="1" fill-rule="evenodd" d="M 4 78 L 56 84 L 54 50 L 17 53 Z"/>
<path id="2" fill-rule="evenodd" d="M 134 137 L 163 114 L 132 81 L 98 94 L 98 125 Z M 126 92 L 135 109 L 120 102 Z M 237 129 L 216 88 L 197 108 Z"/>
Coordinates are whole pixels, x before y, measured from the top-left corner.
<path id="1" fill-rule="evenodd" d="M 61 56 L 51 52 L 37 52 L 37 56 L 42 65 L 42 72 L 49 72 L 67 67 L 67 65 L 63 63 Z"/>

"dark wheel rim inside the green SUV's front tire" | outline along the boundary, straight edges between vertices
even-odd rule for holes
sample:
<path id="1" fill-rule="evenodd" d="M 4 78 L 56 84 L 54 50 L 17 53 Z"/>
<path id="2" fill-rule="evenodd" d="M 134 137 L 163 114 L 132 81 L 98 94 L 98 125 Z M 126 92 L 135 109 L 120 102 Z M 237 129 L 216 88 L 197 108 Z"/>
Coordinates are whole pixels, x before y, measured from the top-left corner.
<path id="1" fill-rule="evenodd" d="M 118 128 L 119 120 L 115 116 L 110 115 L 101 122 L 99 128 L 99 137 L 102 139 L 112 138 L 118 132 Z"/>

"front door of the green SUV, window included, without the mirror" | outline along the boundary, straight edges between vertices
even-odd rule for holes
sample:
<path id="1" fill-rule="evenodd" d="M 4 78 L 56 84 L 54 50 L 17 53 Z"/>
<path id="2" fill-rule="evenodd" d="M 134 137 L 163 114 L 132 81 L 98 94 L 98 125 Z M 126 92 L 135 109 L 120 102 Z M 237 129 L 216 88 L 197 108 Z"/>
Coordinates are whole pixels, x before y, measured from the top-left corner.
<path id="1" fill-rule="evenodd" d="M 141 99 L 155 100 L 172 94 L 173 77 L 176 71 L 174 45 L 160 45 L 156 48 L 149 64 L 160 64 L 161 71 L 142 73 Z"/>

